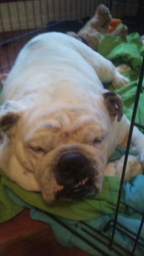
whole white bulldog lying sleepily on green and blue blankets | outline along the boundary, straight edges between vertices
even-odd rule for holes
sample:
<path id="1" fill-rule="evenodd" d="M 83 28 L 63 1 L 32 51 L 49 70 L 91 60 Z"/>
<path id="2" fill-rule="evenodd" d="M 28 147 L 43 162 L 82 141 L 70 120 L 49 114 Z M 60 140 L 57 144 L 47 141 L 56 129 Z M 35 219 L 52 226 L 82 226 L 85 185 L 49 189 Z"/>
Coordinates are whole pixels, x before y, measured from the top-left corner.
<path id="1" fill-rule="evenodd" d="M 121 98 L 104 89 L 105 82 L 120 87 L 128 79 L 79 40 L 57 32 L 30 40 L 2 90 L 5 175 L 41 191 L 48 203 L 99 192 L 110 155 L 126 145 L 129 133 Z M 137 128 L 132 144 L 143 163 L 144 136 Z"/>

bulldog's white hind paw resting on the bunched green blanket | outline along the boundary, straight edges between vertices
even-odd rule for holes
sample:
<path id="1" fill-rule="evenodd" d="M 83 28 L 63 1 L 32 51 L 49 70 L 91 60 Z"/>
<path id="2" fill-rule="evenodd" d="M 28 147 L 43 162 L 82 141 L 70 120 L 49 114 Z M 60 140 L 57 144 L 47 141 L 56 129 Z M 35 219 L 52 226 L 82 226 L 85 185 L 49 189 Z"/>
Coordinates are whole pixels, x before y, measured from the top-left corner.
<path id="1" fill-rule="evenodd" d="M 128 84 L 129 79 L 121 75 L 117 70 L 115 70 L 115 77 L 112 80 L 112 86 L 114 88 L 121 88 L 125 84 Z"/>

